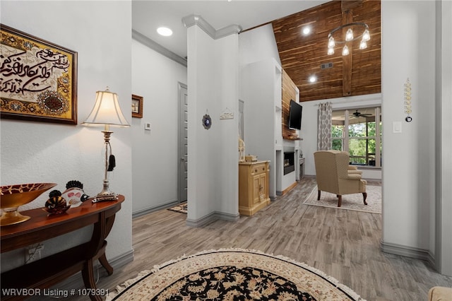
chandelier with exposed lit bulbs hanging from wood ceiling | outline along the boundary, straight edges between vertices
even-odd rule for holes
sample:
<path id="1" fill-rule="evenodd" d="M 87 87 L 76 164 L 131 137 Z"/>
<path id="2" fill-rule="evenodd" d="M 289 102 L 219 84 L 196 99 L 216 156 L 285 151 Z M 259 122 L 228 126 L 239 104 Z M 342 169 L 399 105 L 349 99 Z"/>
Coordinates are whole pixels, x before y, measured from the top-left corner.
<path id="1" fill-rule="evenodd" d="M 345 33 L 345 38 L 334 38 L 335 32 L 338 30 L 347 28 L 347 32 Z M 355 33 L 354 31 L 355 30 Z M 356 36 L 356 32 L 360 33 Z M 342 55 L 348 55 L 350 54 L 350 50 L 348 49 L 347 44 L 352 43 L 356 40 L 361 39 L 361 42 L 359 42 L 359 49 L 366 49 L 367 48 L 367 41 L 370 40 L 370 33 L 369 33 L 369 25 L 362 22 L 355 22 L 355 23 L 348 23 L 345 25 L 341 25 L 338 28 L 335 28 L 331 30 L 331 32 L 328 34 L 328 55 L 334 54 L 334 47 L 336 44 L 345 44 L 342 49 Z M 350 45 L 350 44 L 349 44 Z M 351 47 L 351 46 L 350 46 Z"/>

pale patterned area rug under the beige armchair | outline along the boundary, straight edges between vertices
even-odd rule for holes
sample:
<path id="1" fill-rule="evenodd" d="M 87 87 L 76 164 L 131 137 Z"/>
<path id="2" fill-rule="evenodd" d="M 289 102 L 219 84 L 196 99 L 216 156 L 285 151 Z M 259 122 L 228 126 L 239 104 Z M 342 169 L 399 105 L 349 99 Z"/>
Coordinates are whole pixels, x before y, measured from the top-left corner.
<path id="1" fill-rule="evenodd" d="M 362 194 L 344 194 L 342 196 L 342 204 L 338 207 L 338 196 L 321 191 L 320 200 L 317 200 L 317 191 L 317 187 L 314 187 L 303 203 L 311 206 L 381 213 L 381 186 L 367 185 L 367 205 L 364 205 L 362 201 Z"/>

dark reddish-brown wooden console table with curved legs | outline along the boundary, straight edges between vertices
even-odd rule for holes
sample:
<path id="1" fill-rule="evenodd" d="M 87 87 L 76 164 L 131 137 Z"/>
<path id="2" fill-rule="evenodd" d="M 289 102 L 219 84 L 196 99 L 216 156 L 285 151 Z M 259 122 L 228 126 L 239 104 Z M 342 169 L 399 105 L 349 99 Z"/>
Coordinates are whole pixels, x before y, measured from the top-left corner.
<path id="1" fill-rule="evenodd" d="M 40 290 L 50 288 L 78 271 L 82 271 L 85 283 L 86 289 L 81 290 L 83 295 L 91 300 L 105 297 L 99 294 L 101 290 L 96 289 L 93 264 L 99 259 L 107 273 L 112 275 L 113 268 L 105 256 L 105 238 L 112 230 L 114 216 L 121 209 L 124 196 L 119 195 L 117 201 L 93 203 L 91 200 L 58 215 L 49 216 L 43 208 L 24 211 L 30 220 L 1 227 L 1 253 L 4 253 L 94 225 L 89 242 L 1 273 L 1 300 L 23 300 L 30 297 L 30 292 L 20 295 L 20 289 L 36 289 L 40 293 Z"/>

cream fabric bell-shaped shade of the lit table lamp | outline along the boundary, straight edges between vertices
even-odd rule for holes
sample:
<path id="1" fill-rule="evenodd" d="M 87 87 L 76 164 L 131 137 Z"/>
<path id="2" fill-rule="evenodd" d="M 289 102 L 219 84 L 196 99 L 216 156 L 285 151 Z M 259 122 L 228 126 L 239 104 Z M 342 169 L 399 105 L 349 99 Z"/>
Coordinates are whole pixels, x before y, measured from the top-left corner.
<path id="1" fill-rule="evenodd" d="M 83 122 L 83 125 L 115 125 L 115 126 L 130 126 L 124 114 L 119 107 L 117 93 L 112 93 L 108 90 L 96 92 L 96 102 L 93 110 L 88 118 Z"/>

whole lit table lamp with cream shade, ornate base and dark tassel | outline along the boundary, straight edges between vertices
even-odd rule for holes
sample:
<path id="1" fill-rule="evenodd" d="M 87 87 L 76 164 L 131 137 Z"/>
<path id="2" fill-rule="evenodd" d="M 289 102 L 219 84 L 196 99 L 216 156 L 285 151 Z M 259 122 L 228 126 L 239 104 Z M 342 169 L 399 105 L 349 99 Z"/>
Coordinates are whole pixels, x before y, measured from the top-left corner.
<path id="1" fill-rule="evenodd" d="M 112 93 L 109 88 L 105 91 L 96 92 L 96 102 L 93 110 L 88 115 L 88 118 L 82 123 L 85 126 L 99 126 L 104 125 L 105 128 L 102 131 L 104 133 L 105 141 L 105 179 L 104 188 L 97 194 L 93 202 L 98 201 L 114 201 L 118 199 L 118 195 L 109 189 L 108 172 L 112 171 L 116 165 L 114 155 L 112 155 L 112 146 L 110 145 L 110 136 L 113 131 L 109 130 L 109 126 L 130 126 L 127 122 L 124 114 L 119 107 L 117 93 Z"/>

